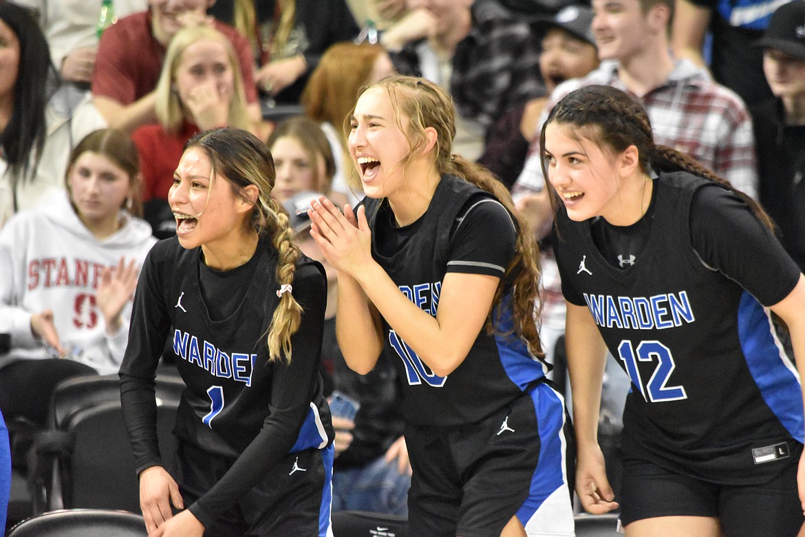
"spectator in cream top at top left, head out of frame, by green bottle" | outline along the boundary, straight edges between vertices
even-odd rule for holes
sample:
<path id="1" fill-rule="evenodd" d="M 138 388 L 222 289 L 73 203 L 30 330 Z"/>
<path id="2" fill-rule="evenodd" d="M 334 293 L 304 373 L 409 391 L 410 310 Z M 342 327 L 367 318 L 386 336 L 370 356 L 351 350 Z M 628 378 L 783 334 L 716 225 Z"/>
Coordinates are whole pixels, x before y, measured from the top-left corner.
<path id="1" fill-rule="evenodd" d="M 86 0 L 16 0 L 39 15 L 39 27 L 50 45 L 51 59 L 63 81 L 89 89 L 98 48 L 101 2 Z M 114 16 L 146 10 L 147 0 L 113 0 Z"/>

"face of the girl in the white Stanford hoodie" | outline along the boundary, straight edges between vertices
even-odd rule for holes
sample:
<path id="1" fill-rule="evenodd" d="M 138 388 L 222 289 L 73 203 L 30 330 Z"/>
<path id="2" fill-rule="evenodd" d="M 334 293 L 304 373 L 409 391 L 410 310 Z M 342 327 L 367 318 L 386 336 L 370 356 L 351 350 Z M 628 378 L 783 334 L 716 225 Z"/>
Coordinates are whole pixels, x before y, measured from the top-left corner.
<path id="1" fill-rule="evenodd" d="M 70 199 L 89 229 L 109 228 L 132 194 L 129 174 L 103 155 L 85 151 L 68 173 Z"/>

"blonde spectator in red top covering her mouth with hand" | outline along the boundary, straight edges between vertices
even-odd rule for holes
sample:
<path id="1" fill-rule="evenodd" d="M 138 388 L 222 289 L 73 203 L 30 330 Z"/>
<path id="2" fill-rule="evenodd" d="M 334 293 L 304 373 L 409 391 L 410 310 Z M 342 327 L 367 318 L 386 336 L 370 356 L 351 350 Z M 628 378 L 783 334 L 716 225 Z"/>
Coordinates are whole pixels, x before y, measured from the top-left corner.
<path id="1" fill-rule="evenodd" d="M 207 25 L 178 31 L 167 48 L 154 106 L 159 122 L 138 127 L 131 138 L 140 155 L 142 200 L 167 204 L 173 172 L 190 138 L 220 126 L 250 126 L 241 70 L 229 39 Z"/>

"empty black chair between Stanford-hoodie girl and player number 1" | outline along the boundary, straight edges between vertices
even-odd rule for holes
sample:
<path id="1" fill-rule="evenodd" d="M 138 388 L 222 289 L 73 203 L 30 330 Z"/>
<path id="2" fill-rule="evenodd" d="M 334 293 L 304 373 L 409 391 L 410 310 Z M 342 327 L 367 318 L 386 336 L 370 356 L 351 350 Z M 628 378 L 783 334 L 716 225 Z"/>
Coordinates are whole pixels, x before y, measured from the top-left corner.
<path id="1" fill-rule="evenodd" d="M 155 389 L 159 450 L 171 471 L 171 431 L 184 382 L 157 378 Z M 34 514 L 75 508 L 140 512 L 117 375 L 68 378 L 56 386 L 48 429 L 30 458 Z"/>

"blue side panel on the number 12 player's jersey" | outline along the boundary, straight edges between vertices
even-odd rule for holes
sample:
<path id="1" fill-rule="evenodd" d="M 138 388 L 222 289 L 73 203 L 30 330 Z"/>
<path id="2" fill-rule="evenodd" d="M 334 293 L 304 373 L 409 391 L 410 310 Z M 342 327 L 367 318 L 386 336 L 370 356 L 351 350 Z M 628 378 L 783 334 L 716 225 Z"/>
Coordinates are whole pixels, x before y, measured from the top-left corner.
<path id="1" fill-rule="evenodd" d="M 738 306 L 738 336 L 749 371 L 782 426 L 803 442 L 803 396 L 799 374 L 774 333 L 766 308 L 749 292 Z"/>

